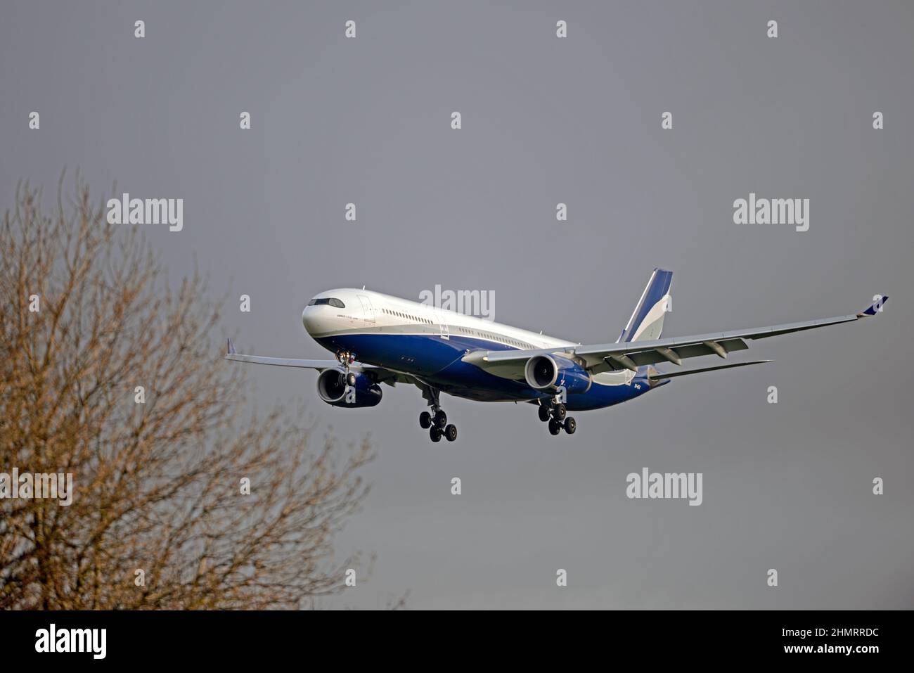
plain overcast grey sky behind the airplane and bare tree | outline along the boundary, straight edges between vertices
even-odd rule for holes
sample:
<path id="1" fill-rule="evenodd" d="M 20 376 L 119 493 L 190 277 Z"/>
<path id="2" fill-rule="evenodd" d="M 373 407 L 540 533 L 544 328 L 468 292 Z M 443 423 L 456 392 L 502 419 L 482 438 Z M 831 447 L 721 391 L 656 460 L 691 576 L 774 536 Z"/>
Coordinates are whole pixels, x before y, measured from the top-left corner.
<path id="1" fill-rule="evenodd" d="M 905 2 L 7 0 L 0 203 L 20 177 L 52 195 L 63 166 L 96 194 L 184 198 L 183 231 L 147 234 L 175 280 L 196 256 L 214 296 L 250 294 L 226 322 L 260 355 L 324 357 L 301 311 L 339 286 L 491 290 L 499 322 L 585 343 L 618 336 L 654 266 L 675 272 L 664 336 L 888 294 L 875 319 L 736 356 L 769 365 L 576 413 L 573 437 L 445 398 L 460 437 L 432 444 L 417 389 L 353 411 L 309 372 L 250 383 L 261 408 L 303 397 L 375 440 L 339 539 L 374 574 L 330 605 L 910 607 L 912 30 Z M 810 230 L 735 225 L 749 192 L 809 198 Z M 703 473 L 703 504 L 628 499 L 644 466 Z"/>

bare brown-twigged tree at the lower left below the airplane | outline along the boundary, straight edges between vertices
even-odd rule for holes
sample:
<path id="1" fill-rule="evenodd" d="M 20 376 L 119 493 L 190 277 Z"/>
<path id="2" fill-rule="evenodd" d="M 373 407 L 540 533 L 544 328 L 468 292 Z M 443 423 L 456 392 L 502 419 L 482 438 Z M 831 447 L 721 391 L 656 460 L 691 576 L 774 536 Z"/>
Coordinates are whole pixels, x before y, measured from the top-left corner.
<path id="1" fill-rule="evenodd" d="M 220 361 L 197 272 L 170 287 L 79 176 L 50 214 L 41 199 L 17 187 L 0 230 L 0 472 L 72 473 L 74 497 L 0 499 L 0 608 L 298 608 L 339 591 L 357 559 L 335 561 L 333 541 L 367 493 L 367 442 L 239 412 L 244 374 Z"/>

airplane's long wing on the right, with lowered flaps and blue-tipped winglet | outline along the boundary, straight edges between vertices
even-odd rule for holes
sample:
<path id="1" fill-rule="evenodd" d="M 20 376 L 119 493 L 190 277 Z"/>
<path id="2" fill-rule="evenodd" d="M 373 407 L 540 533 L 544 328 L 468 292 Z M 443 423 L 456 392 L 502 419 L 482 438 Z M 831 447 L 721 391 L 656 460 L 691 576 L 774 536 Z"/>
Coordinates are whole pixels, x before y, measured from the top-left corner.
<path id="1" fill-rule="evenodd" d="M 463 357 L 477 367 L 486 369 L 496 376 L 523 378 L 524 364 L 528 358 L 537 355 L 558 355 L 573 359 L 592 373 L 631 369 L 637 371 L 643 365 L 657 362 L 672 362 L 681 365 L 685 358 L 717 355 L 727 358 L 734 350 L 749 347 L 747 340 L 777 337 L 791 332 L 850 323 L 868 315 L 876 315 L 888 297 L 883 296 L 866 311 L 854 315 L 837 315 L 802 323 L 785 323 L 753 329 L 739 329 L 730 332 L 709 332 L 691 337 L 671 337 L 655 341 L 628 341 L 593 346 L 572 346 L 556 348 L 533 348 L 529 350 L 477 350 Z"/>

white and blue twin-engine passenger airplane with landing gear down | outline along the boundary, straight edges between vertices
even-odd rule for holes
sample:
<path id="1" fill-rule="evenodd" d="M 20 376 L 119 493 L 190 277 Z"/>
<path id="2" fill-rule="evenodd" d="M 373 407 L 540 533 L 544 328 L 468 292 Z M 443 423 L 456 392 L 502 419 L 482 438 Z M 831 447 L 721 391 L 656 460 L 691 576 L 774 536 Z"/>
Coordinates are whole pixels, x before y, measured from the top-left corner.
<path id="1" fill-rule="evenodd" d="M 665 373 L 685 358 L 727 358 L 747 341 L 855 321 L 882 310 L 887 296 L 862 313 L 838 315 L 691 337 L 661 338 L 671 307 L 673 272 L 654 269 L 632 316 L 615 343 L 582 345 L 484 318 L 366 290 L 341 288 L 314 295 L 304 307 L 308 334 L 335 359 L 265 358 L 243 355 L 228 339 L 225 358 L 279 367 L 316 369 L 317 394 L 336 407 L 373 407 L 380 384 L 417 386 L 428 402 L 419 424 L 432 442 L 457 439 L 457 427 L 441 408 L 441 392 L 475 401 L 537 405 L 549 433 L 578 428 L 568 411 L 604 409 L 641 397 L 671 379 L 717 369 L 757 365 L 749 360 Z M 664 367 L 664 369 L 666 369 Z"/>

